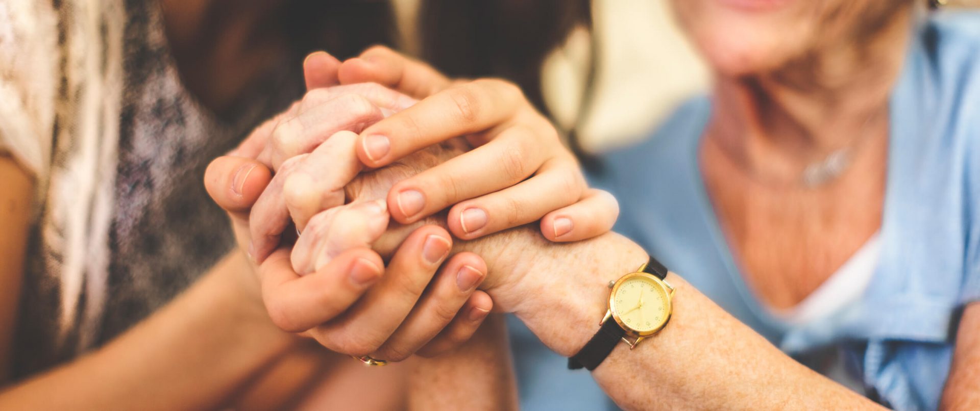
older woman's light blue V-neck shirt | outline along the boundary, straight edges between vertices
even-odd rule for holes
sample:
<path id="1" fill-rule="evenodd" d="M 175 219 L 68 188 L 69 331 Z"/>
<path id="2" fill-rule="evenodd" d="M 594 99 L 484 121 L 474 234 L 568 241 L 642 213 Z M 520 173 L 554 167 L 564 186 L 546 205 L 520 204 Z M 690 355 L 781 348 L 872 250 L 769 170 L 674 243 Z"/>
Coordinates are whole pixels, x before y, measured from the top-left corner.
<path id="1" fill-rule="evenodd" d="M 879 261 L 860 300 L 828 318 L 788 324 L 747 287 L 699 171 L 710 114 L 711 101 L 696 98 L 642 143 L 602 157 L 593 181 L 619 199 L 616 231 L 790 355 L 808 363 L 832 347 L 868 397 L 936 409 L 957 316 L 980 300 L 980 14 L 918 24 L 891 97 Z M 614 407 L 516 321 L 512 335 L 526 409 Z"/>

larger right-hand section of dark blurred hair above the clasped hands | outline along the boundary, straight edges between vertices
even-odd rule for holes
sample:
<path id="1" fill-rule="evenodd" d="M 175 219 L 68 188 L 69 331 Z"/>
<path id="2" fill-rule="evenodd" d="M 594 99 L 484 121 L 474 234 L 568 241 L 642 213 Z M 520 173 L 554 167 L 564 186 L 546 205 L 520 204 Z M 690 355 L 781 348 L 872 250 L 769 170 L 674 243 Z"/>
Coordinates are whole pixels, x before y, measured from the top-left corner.
<path id="1" fill-rule="evenodd" d="M 514 81 L 543 114 L 541 66 L 575 27 L 591 31 L 590 0 L 423 0 L 418 27 L 422 60 L 451 76 L 496 76 Z M 595 44 L 590 50 L 594 53 Z M 578 117 L 584 117 L 595 84 L 590 59 Z M 576 124 L 577 125 L 577 124 Z M 560 130 L 581 154 L 575 126 Z"/>

